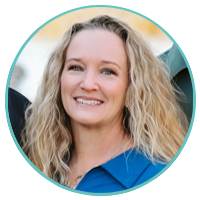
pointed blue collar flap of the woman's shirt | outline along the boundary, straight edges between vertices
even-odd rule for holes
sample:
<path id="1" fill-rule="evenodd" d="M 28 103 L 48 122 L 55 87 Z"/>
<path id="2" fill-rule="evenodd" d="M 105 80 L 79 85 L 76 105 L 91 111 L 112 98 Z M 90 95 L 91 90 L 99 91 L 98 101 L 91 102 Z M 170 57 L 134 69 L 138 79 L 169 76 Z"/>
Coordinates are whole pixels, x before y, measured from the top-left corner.
<path id="1" fill-rule="evenodd" d="M 131 188 L 150 164 L 151 161 L 143 154 L 136 149 L 129 149 L 100 167 L 124 187 Z"/>

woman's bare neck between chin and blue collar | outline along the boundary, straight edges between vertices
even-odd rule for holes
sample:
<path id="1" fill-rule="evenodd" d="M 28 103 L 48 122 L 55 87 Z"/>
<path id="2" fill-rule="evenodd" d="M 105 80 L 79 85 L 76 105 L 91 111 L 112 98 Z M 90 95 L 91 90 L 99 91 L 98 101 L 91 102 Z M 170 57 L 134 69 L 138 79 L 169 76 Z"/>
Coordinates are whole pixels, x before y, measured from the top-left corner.
<path id="1" fill-rule="evenodd" d="M 72 160 L 80 174 L 133 147 L 120 123 L 96 127 L 72 123 L 72 130 L 75 144 Z"/>

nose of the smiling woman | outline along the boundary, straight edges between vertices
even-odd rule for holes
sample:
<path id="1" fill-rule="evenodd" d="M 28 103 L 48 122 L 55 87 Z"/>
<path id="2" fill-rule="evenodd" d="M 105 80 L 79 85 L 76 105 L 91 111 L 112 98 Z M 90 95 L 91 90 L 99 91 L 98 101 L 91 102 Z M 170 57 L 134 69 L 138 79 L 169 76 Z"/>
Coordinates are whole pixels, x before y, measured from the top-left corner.
<path id="1" fill-rule="evenodd" d="M 95 72 L 87 71 L 80 84 L 81 89 L 95 91 L 99 89 L 98 78 Z"/>

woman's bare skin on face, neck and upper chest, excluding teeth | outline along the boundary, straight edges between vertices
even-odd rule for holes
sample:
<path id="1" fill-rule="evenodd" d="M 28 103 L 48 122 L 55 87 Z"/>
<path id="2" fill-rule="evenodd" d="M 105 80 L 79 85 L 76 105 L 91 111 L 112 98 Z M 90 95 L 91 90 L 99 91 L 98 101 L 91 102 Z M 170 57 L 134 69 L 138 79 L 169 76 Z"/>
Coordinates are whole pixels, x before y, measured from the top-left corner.
<path id="1" fill-rule="evenodd" d="M 84 174 L 132 147 L 122 122 L 127 89 L 127 56 L 121 38 L 99 29 L 78 32 L 67 49 L 61 76 L 62 102 L 75 143 L 76 171 L 70 162 L 69 187 L 74 187 L 77 172 Z M 100 104 L 79 103 L 77 98 Z"/>

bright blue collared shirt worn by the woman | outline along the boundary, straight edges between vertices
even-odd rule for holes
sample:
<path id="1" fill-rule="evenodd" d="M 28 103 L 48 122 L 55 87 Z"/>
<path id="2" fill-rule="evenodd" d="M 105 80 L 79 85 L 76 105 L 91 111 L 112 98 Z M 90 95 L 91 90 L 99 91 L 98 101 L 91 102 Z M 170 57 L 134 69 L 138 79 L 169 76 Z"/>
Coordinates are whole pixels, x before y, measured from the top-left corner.
<path id="1" fill-rule="evenodd" d="M 165 166 L 153 164 L 135 149 L 128 150 L 107 163 L 91 169 L 75 189 L 95 193 L 126 190 L 147 181 Z"/>

